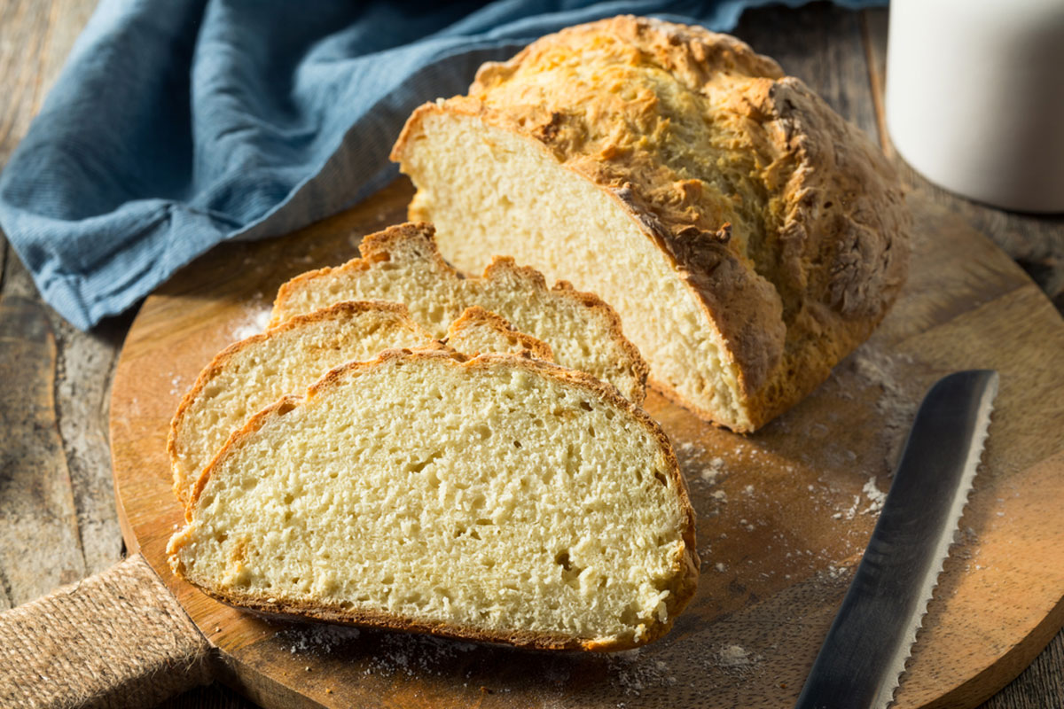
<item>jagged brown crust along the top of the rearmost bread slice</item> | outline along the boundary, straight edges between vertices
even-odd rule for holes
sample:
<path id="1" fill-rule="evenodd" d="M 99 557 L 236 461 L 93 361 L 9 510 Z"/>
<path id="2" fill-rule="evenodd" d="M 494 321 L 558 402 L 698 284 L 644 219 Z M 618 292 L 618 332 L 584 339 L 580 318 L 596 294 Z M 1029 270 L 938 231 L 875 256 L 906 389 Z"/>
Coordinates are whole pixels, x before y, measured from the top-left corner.
<path id="1" fill-rule="evenodd" d="M 466 281 L 477 281 L 478 278 L 465 278 L 454 267 L 448 264 L 436 247 L 435 229 L 426 222 L 404 222 L 394 226 L 388 226 L 384 231 L 369 234 L 362 239 L 359 246 L 361 258 L 352 258 L 340 266 L 321 268 L 315 271 L 307 271 L 281 286 L 273 301 L 273 316 L 270 322 L 280 322 L 285 318 L 285 304 L 309 282 L 315 278 L 329 277 L 330 275 L 343 274 L 346 272 L 360 272 L 371 268 L 375 264 L 390 260 L 398 253 L 413 253 L 417 257 L 429 261 L 432 269 L 438 271 L 444 277 L 462 278 Z M 517 266 L 510 256 L 496 256 L 484 269 L 479 280 L 491 282 L 505 280 L 510 276 L 520 280 L 530 288 L 541 292 L 552 292 L 563 299 L 568 300 L 573 305 L 581 306 L 601 318 L 611 333 L 611 339 L 624 351 L 625 356 L 631 362 L 633 378 L 635 379 L 631 392 L 632 401 L 642 404 L 646 399 L 646 381 L 649 367 L 643 359 L 643 355 L 627 337 L 621 330 L 620 317 L 605 301 L 591 292 L 577 290 L 566 281 L 559 281 L 553 288 L 547 287 L 547 280 L 544 275 L 528 266 Z"/>

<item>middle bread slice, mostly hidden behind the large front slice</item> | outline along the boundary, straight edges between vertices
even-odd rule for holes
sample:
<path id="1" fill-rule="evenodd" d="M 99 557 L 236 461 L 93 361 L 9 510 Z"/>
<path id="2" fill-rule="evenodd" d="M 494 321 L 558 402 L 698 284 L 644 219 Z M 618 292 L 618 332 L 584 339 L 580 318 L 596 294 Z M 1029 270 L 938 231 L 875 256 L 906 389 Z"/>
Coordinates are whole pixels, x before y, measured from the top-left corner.
<path id="1" fill-rule="evenodd" d="M 452 349 L 470 355 L 551 356 L 544 342 L 481 308 L 464 313 L 447 337 Z M 174 493 L 187 503 L 200 473 L 232 433 L 281 396 L 302 393 L 333 367 L 385 350 L 437 345 L 405 306 L 369 301 L 336 303 L 226 348 L 200 372 L 170 423 Z"/>

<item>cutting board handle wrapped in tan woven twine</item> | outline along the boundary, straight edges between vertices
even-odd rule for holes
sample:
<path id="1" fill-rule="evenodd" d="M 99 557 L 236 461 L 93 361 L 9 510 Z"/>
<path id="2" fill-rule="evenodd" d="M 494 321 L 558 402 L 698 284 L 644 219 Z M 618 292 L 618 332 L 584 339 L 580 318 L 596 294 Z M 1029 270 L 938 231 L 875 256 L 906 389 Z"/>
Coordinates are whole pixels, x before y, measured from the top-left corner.
<path id="1" fill-rule="evenodd" d="M 0 613 L 0 707 L 143 709 L 211 681 L 210 657 L 138 554 Z"/>

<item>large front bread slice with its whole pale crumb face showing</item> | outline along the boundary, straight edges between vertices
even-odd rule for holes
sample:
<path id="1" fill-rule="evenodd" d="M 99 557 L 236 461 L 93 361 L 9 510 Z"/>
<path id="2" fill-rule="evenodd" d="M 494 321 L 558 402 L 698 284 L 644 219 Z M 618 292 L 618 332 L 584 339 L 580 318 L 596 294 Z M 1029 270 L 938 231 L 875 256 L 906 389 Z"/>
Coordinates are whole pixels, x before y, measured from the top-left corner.
<path id="1" fill-rule="evenodd" d="M 661 428 L 582 372 L 390 351 L 256 415 L 211 462 L 176 574 L 259 611 L 622 649 L 694 593 Z"/>

